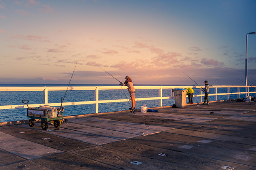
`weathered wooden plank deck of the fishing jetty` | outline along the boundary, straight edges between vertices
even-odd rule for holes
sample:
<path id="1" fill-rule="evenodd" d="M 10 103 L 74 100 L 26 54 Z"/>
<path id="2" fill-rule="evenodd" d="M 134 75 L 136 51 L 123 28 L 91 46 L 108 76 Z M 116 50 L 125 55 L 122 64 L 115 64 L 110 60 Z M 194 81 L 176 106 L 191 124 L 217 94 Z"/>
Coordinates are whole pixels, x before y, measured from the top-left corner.
<path id="1" fill-rule="evenodd" d="M 255 170 L 256 105 L 212 102 L 158 113 L 0 124 L 0 170 Z"/>

